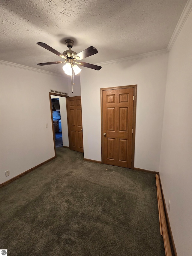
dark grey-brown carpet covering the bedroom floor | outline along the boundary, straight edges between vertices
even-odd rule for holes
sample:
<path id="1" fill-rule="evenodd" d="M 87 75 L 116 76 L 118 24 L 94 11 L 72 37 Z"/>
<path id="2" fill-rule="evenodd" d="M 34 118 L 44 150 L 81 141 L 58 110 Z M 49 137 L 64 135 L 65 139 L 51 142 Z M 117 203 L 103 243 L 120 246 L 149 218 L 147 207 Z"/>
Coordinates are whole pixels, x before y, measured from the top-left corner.
<path id="1" fill-rule="evenodd" d="M 165 255 L 155 175 L 57 158 L 0 189 L 8 255 Z"/>

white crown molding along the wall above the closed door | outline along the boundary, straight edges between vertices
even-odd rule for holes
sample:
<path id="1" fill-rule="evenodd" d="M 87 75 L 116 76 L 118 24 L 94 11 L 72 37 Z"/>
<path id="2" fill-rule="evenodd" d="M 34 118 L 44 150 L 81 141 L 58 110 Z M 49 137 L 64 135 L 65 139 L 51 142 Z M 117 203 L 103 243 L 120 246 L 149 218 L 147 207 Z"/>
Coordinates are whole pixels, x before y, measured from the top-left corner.
<path id="1" fill-rule="evenodd" d="M 150 52 L 150 53 L 143 53 L 143 54 L 130 56 L 130 57 L 122 58 L 122 59 L 115 59 L 115 60 L 100 62 L 100 63 L 96 63 L 96 64 L 102 65 L 102 66 L 111 65 L 111 64 L 115 64 L 115 63 L 127 62 L 127 61 L 131 61 L 131 60 L 136 60 L 136 59 L 143 59 L 143 58 L 152 57 L 155 55 L 161 55 L 161 54 L 165 54 L 165 53 L 168 53 L 167 49 L 158 50 L 158 51 L 154 51 L 154 52 Z"/>

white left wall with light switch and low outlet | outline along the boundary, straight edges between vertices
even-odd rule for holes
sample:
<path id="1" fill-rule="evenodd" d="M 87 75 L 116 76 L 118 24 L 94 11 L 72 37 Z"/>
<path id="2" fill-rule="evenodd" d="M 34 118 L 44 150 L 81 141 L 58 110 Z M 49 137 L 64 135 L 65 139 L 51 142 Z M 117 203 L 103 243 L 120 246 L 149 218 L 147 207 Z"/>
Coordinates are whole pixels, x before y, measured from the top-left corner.
<path id="1" fill-rule="evenodd" d="M 55 155 L 49 90 L 68 92 L 62 77 L 7 64 L 0 65 L 0 184 Z"/>

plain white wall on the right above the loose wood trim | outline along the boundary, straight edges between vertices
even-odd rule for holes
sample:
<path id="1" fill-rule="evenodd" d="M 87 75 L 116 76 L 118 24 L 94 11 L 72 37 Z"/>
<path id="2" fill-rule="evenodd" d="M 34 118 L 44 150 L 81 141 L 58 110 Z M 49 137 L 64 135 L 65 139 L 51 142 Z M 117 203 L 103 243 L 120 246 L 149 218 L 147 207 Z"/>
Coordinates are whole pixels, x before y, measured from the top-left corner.
<path id="1" fill-rule="evenodd" d="M 178 256 L 192 255 L 192 13 L 169 53 L 160 176 Z"/>

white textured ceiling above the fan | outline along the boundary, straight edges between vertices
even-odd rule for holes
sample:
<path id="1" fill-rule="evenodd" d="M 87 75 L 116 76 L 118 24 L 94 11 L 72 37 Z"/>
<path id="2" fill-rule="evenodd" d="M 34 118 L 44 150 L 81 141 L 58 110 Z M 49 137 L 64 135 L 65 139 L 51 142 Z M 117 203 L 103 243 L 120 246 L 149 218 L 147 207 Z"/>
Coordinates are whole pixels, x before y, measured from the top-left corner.
<path id="1" fill-rule="evenodd" d="M 62 59 L 36 42 L 61 53 L 68 38 L 77 53 L 92 45 L 99 53 L 84 59 L 89 63 L 166 49 L 186 2 L 1 0 L 0 59 L 61 74 L 62 64 L 37 65 Z"/>

